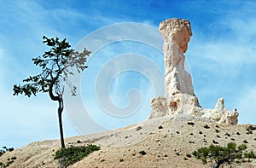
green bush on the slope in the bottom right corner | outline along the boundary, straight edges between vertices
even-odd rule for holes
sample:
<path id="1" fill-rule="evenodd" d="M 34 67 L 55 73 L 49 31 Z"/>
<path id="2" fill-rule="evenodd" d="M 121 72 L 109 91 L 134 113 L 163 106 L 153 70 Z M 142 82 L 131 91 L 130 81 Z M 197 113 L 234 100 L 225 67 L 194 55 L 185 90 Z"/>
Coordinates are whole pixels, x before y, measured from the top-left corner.
<path id="1" fill-rule="evenodd" d="M 199 148 L 197 151 L 193 152 L 193 155 L 197 159 L 201 159 L 204 164 L 207 164 L 207 161 L 210 160 L 212 167 L 218 168 L 220 165 L 231 164 L 236 159 L 236 162 L 239 163 L 239 159 L 256 158 L 253 151 L 250 153 L 245 153 L 242 157 L 242 152 L 247 149 L 245 144 L 242 144 L 236 148 L 235 142 L 230 142 L 226 147 L 221 147 L 218 145 L 210 145 L 208 148 Z"/>

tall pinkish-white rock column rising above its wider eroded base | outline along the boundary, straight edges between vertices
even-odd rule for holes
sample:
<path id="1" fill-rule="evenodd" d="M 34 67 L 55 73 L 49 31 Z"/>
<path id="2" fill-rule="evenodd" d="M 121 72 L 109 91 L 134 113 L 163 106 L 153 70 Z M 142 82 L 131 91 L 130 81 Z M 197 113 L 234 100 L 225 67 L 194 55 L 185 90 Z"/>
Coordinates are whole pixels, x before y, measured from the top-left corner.
<path id="1" fill-rule="evenodd" d="M 185 53 L 192 36 L 189 20 L 171 19 L 160 23 L 164 38 L 164 60 L 166 69 L 165 97 L 170 100 L 177 93 L 195 96 L 191 76 L 185 71 Z"/>

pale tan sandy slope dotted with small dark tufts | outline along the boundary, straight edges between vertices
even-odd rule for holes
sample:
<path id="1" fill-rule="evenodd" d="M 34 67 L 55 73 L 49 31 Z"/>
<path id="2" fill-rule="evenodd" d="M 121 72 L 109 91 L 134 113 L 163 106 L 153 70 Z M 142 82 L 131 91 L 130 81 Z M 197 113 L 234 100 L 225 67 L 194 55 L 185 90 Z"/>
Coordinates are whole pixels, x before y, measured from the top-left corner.
<path id="1" fill-rule="evenodd" d="M 101 146 L 101 150 L 71 167 L 210 167 L 193 156 L 187 157 L 186 154 L 209 146 L 212 140 L 220 145 L 228 142 L 239 145 L 247 140 L 248 150 L 256 153 L 256 130 L 253 130 L 253 134 L 247 134 L 247 125 L 218 125 L 195 119 L 193 122 L 195 125 L 188 125 L 186 119 L 173 120 L 172 117 L 150 119 L 119 130 L 67 138 L 67 147 L 88 143 Z M 159 128 L 160 125 L 162 129 Z M 204 125 L 209 125 L 210 129 L 204 128 Z M 139 130 L 138 126 L 142 129 Z M 59 147 L 58 140 L 32 142 L 26 147 L 3 154 L 0 162 L 16 156 L 15 163 L 10 167 L 58 167 L 59 161 L 53 159 L 53 155 Z M 140 151 L 146 154 L 142 155 Z M 256 167 L 256 160 L 235 167 Z"/>

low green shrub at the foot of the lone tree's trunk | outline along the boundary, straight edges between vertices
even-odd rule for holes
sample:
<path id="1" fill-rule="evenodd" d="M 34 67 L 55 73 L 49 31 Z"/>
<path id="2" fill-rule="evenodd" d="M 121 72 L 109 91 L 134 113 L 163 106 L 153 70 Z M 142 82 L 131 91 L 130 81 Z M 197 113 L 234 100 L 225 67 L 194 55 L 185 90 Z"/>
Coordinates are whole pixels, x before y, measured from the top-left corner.
<path id="1" fill-rule="evenodd" d="M 73 165 L 77 161 L 83 159 L 88 154 L 92 153 L 93 151 L 100 150 L 101 148 L 96 145 L 88 145 L 88 146 L 81 146 L 81 147 L 70 147 L 70 148 L 61 148 L 60 150 L 56 151 L 55 159 L 64 159 L 64 165 Z"/>

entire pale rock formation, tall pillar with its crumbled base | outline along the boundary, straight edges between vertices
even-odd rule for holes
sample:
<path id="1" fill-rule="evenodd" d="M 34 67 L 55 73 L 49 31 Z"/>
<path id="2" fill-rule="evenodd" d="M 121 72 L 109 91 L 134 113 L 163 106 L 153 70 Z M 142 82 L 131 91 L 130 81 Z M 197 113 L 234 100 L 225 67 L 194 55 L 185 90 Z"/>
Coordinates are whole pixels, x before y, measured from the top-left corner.
<path id="1" fill-rule="evenodd" d="M 165 96 L 151 100 L 152 111 L 148 119 L 178 113 L 212 122 L 237 124 L 236 109 L 227 110 L 223 98 L 218 99 L 215 109 L 203 109 L 195 96 L 191 76 L 184 68 L 183 54 L 187 51 L 192 36 L 189 20 L 162 21 L 160 33 L 164 38 Z"/>

